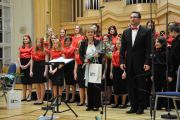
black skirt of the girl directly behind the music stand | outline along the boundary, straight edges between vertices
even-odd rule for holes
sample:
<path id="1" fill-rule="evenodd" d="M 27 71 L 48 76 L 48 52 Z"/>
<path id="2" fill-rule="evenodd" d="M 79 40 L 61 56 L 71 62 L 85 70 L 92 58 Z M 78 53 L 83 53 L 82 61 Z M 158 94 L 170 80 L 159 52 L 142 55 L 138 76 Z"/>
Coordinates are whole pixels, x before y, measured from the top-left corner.
<path id="1" fill-rule="evenodd" d="M 56 67 L 58 67 L 58 66 L 53 66 L 53 69 Z M 53 85 L 63 86 L 64 85 L 64 70 L 63 70 L 63 68 L 58 69 L 54 73 L 54 75 L 49 74 L 49 78 L 52 81 Z"/>

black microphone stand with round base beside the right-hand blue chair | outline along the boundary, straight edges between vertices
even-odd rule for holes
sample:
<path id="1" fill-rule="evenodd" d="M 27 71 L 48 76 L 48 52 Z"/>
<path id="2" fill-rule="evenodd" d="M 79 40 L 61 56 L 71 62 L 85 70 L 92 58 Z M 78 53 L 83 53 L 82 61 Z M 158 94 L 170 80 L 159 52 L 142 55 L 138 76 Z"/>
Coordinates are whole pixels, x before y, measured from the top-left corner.
<path id="1" fill-rule="evenodd" d="M 166 39 L 168 38 L 168 0 L 167 0 L 167 11 L 166 11 Z M 167 80 L 167 91 L 169 91 L 169 83 L 168 83 L 168 47 L 166 47 L 166 80 Z M 168 113 L 167 114 L 163 114 L 161 115 L 161 118 L 163 119 L 177 119 L 177 116 L 176 115 L 172 115 L 170 114 L 170 101 L 169 101 L 169 98 L 168 98 L 168 106 L 167 106 L 167 109 L 168 109 Z"/>

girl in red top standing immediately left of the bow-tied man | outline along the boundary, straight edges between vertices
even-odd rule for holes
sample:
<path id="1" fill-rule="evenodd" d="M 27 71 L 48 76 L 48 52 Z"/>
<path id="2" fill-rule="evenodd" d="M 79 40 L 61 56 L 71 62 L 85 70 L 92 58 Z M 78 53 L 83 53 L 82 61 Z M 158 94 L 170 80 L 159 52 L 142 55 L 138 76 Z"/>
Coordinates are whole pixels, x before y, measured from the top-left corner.
<path id="1" fill-rule="evenodd" d="M 126 85 L 126 72 L 122 71 L 120 68 L 120 48 L 121 41 L 116 41 L 116 51 L 112 54 L 112 62 L 111 62 L 111 72 L 110 77 L 113 80 L 113 90 L 114 90 L 114 105 L 112 108 L 117 108 L 118 105 L 118 97 L 122 95 L 122 106 L 121 108 L 126 108 L 126 96 L 127 96 L 127 85 Z"/>

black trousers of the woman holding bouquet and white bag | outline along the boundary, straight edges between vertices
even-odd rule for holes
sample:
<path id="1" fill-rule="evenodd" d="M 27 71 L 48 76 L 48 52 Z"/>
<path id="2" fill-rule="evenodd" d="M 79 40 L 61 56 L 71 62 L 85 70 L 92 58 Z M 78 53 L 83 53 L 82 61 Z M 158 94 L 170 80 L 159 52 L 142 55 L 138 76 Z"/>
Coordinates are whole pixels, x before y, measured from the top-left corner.
<path id="1" fill-rule="evenodd" d="M 101 85 L 88 83 L 88 108 L 99 108 L 101 106 Z"/>

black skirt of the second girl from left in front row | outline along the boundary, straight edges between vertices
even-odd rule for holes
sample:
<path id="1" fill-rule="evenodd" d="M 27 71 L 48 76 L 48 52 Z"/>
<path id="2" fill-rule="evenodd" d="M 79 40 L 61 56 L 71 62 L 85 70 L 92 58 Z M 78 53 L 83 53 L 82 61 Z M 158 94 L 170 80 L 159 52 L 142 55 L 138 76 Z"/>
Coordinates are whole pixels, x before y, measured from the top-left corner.
<path id="1" fill-rule="evenodd" d="M 33 63 L 33 83 L 44 83 L 45 61 L 34 61 Z"/>

